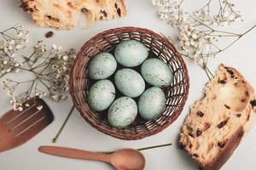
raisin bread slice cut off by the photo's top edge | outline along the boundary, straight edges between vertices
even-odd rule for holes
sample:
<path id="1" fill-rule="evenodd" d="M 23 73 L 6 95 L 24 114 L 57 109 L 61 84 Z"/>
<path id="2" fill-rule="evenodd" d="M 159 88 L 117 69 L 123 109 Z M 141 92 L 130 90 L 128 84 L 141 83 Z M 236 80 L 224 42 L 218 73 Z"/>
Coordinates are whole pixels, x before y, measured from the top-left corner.
<path id="1" fill-rule="evenodd" d="M 88 26 L 95 20 L 111 20 L 126 14 L 123 0 L 21 0 L 21 8 L 29 14 L 37 26 L 71 29 L 79 20 L 79 14 L 87 14 Z"/>

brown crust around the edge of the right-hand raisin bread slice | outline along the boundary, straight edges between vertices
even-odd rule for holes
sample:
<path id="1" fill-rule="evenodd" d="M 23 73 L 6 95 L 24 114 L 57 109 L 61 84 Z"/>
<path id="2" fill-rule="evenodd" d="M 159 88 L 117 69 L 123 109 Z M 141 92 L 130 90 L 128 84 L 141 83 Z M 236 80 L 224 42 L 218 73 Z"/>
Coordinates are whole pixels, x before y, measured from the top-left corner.
<path id="1" fill-rule="evenodd" d="M 243 123 L 242 126 L 237 127 L 236 132 L 232 133 L 229 139 L 225 142 L 224 147 L 218 148 L 217 154 L 212 158 L 211 161 L 207 162 L 198 159 L 197 156 L 195 156 L 195 153 L 193 153 L 192 150 L 189 150 L 188 146 L 184 144 L 184 142 L 186 142 L 185 139 L 187 139 L 188 137 L 186 137 L 186 134 L 184 134 L 182 130 L 180 143 L 183 145 L 183 148 L 189 153 L 189 155 L 193 156 L 193 159 L 199 165 L 199 167 L 201 167 L 202 170 L 218 170 L 220 167 L 222 167 L 224 163 L 228 161 L 230 156 L 233 154 L 234 150 L 236 150 L 237 146 L 241 143 L 241 140 L 246 136 L 247 132 L 250 130 L 250 128 L 253 126 L 253 123 L 256 120 L 256 106 L 253 107 L 253 105 L 251 105 L 250 103 L 251 101 L 256 99 L 256 94 L 251 85 L 248 82 L 246 82 L 244 77 L 241 76 L 241 73 L 237 71 L 235 68 L 220 65 L 218 71 L 226 71 L 228 74 L 230 74 L 230 77 L 239 80 L 239 82 L 245 83 L 245 87 L 249 90 L 250 95 L 246 107 L 244 108 L 244 111 L 248 113 L 248 116 L 246 122 Z M 213 82 L 207 83 L 207 86 L 205 88 L 206 95 L 211 92 L 212 83 Z M 195 105 L 200 105 L 200 102 L 201 101 L 198 101 Z"/>

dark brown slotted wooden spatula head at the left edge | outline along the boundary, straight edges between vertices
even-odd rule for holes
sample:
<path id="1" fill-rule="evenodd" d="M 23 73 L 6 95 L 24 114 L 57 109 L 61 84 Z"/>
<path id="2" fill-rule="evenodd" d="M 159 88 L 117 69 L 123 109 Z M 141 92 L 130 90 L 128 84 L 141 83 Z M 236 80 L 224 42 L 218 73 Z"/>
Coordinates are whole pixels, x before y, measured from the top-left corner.
<path id="1" fill-rule="evenodd" d="M 53 122 L 54 116 L 43 99 L 26 101 L 24 111 L 9 111 L 0 117 L 0 152 L 10 150 L 32 139 L 37 133 Z M 42 105 L 38 111 L 37 106 Z"/>

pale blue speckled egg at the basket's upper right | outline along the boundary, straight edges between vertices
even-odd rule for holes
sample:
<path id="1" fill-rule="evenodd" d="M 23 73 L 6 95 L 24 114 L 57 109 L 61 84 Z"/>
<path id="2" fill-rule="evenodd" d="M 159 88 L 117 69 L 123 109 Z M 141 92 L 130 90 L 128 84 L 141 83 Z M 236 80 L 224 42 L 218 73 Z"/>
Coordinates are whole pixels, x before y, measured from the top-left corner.
<path id="1" fill-rule="evenodd" d="M 141 72 L 148 84 L 156 87 L 166 87 L 173 81 L 171 68 L 161 59 L 151 58 L 143 62 Z"/>

